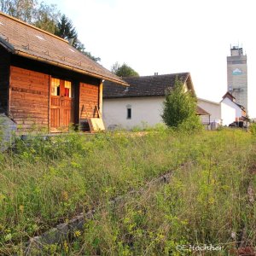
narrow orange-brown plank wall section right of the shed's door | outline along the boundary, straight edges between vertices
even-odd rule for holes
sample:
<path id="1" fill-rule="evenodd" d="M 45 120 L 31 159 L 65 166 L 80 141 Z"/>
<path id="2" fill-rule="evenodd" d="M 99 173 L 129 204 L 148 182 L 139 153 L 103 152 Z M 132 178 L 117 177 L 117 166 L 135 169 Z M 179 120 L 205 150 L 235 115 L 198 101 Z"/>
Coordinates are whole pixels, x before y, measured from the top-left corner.
<path id="1" fill-rule="evenodd" d="M 99 108 L 99 85 L 80 83 L 80 119 L 98 117 L 96 112 L 96 106 Z"/>

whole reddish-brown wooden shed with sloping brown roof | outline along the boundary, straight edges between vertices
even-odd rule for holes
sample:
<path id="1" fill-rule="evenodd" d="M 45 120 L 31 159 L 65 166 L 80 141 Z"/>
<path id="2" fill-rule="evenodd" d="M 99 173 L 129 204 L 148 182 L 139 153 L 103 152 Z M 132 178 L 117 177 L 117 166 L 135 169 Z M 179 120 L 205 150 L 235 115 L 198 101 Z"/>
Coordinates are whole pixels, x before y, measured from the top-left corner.
<path id="1" fill-rule="evenodd" d="M 102 81 L 127 85 L 67 40 L 0 13 L 0 113 L 18 131 L 67 131 L 102 112 Z"/>

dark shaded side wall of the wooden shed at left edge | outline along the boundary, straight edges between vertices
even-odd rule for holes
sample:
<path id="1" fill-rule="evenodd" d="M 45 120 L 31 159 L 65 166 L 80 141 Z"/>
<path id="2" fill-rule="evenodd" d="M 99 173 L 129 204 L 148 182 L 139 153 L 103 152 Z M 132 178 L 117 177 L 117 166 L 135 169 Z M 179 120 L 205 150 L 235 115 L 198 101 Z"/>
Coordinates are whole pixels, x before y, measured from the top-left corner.
<path id="1" fill-rule="evenodd" d="M 0 47 L 0 113 L 8 113 L 9 63 L 8 51 Z"/>

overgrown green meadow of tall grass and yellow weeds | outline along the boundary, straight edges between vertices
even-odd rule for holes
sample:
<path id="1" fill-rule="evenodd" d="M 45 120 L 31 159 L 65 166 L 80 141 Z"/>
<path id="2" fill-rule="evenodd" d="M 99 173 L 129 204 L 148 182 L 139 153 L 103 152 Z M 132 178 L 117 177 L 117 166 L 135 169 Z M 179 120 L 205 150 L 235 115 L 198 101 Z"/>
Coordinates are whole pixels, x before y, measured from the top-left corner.
<path id="1" fill-rule="evenodd" d="M 256 244 L 256 140 L 247 131 L 71 133 L 0 154 L 0 254 L 80 212 L 74 239 L 43 255 L 189 255 L 181 245 Z M 172 172 L 169 183 L 148 185 Z M 109 201 L 131 190 L 119 204 Z M 215 254 L 214 254 L 215 253 Z"/>

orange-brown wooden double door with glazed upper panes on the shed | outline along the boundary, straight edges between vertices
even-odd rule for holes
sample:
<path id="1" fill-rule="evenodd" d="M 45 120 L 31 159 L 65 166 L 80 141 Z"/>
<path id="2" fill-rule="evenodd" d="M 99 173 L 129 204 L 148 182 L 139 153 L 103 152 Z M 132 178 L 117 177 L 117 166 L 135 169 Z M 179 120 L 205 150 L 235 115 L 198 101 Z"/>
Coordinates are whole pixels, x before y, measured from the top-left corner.
<path id="1" fill-rule="evenodd" d="M 73 123 L 73 88 L 70 81 L 51 79 L 50 131 L 68 131 Z"/>

